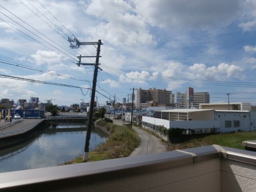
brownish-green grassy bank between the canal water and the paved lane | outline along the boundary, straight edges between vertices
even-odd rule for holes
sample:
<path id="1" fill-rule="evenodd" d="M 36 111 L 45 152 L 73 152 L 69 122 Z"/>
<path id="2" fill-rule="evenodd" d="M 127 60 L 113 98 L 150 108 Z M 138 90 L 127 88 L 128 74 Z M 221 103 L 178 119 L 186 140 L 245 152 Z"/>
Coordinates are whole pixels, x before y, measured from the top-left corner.
<path id="1" fill-rule="evenodd" d="M 97 122 L 97 126 L 105 129 L 110 135 L 105 143 L 102 143 L 95 150 L 89 152 L 89 162 L 127 157 L 140 144 L 140 138 L 132 128 L 118 126 L 104 121 Z M 66 164 L 81 162 L 83 162 L 83 157 L 79 156 L 70 162 L 66 162 Z"/>

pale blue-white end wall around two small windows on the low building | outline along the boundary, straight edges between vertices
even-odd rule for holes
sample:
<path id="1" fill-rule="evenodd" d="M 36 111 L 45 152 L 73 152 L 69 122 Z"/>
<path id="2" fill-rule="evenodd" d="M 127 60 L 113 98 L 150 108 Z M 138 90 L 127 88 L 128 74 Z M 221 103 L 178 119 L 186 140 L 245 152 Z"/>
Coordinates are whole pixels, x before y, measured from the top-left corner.
<path id="1" fill-rule="evenodd" d="M 250 112 L 215 111 L 214 120 L 220 122 L 220 132 L 234 132 L 238 130 L 250 131 Z M 234 120 L 240 121 L 239 127 L 234 127 Z M 230 128 L 225 128 L 225 121 L 232 121 Z"/>

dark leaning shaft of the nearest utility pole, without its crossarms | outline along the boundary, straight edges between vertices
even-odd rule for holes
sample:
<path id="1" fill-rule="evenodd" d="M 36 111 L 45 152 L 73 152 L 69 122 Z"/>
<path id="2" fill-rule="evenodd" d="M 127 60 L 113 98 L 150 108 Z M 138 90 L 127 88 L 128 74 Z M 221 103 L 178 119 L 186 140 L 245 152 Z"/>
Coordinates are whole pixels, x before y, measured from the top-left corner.
<path id="1" fill-rule="evenodd" d="M 88 128 L 86 132 L 86 141 L 84 146 L 84 162 L 87 162 L 89 156 L 89 145 L 90 145 L 90 136 L 92 131 L 92 116 L 93 116 L 93 108 L 94 108 L 94 98 L 96 92 L 96 83 L 97 83 L 97 75 L 98 75 L 98 64 L 100 58 L 100 45 L 101 40 L 98 40 L 98 47 L 97 47 L 97 55 L 96 55 L 96 62 L 94 67 L 94 75 L 93 75 L 93 82 L 92 82 L 92 97 L 90 102 L 90 111 L 89 111 L 89 119 L 88 119 Z"/>

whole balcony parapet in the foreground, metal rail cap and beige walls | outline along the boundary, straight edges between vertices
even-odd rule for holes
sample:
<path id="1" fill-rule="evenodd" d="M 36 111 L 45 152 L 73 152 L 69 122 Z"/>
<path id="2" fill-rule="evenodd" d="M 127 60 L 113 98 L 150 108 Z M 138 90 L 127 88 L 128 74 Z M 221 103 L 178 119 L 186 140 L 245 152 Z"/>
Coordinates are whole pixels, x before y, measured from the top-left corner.
<path id="1" fill-rule="evenodd" d="M 0 191 L 253 192 L 256 153 L 212 145 L 6 172 Z"/>

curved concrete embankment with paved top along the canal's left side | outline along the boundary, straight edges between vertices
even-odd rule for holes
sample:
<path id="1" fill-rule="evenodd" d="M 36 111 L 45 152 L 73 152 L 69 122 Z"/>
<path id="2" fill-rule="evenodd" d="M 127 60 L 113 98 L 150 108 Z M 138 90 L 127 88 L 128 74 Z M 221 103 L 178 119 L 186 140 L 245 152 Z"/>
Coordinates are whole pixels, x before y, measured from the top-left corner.
<path id="1" fill-rule="evenodd" d="M 25 119 L 0 127 L 0 149 L 35 138 L 48 123 L 43 119 Z"/>

